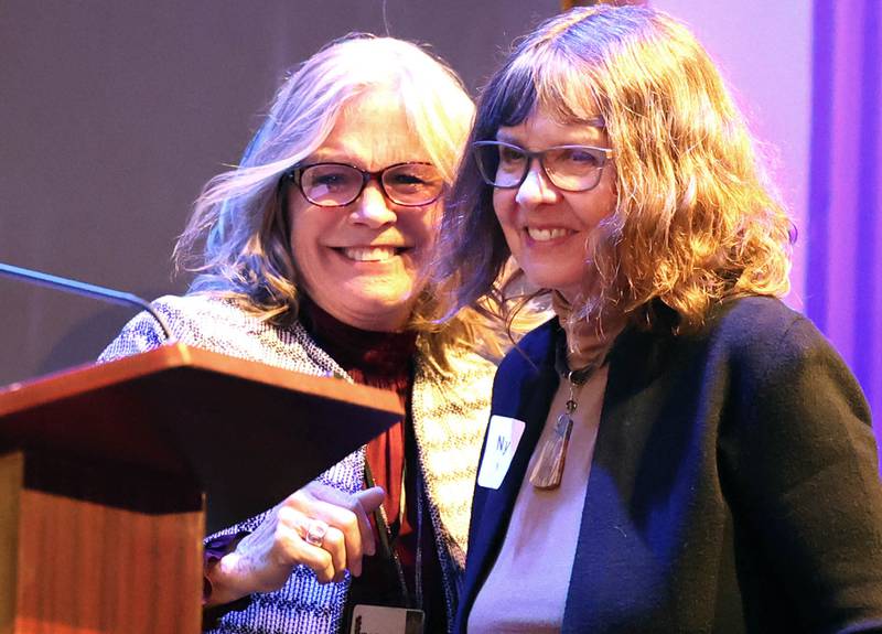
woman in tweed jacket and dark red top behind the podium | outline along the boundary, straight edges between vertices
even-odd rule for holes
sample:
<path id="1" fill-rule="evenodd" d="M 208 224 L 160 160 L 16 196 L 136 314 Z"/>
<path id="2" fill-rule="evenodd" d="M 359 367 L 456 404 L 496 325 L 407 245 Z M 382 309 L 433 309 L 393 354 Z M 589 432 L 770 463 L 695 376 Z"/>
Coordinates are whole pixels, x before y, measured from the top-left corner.
<path id="1" fill-rule="evenodd" d="M 213 632 L 348 632 L 356 605 L 362 631 L 388 608 L 447 630 L 495 367 L 477 354 L 492 340 L 474 313 L 437 325 L 424 268 L 473 111 L 421 47 L 348 36 L 284 82 L 241 164 L 197 200 L 176 247 L 197 277 L 185 297 L 153 304 L 174 336 L 391 389 L 407 411 L 277 507 L 208 539 Z M 161 342 L 142 314 L 103 358 Z"/>

